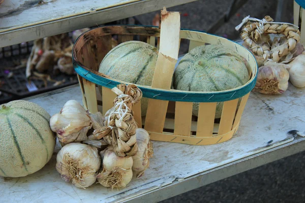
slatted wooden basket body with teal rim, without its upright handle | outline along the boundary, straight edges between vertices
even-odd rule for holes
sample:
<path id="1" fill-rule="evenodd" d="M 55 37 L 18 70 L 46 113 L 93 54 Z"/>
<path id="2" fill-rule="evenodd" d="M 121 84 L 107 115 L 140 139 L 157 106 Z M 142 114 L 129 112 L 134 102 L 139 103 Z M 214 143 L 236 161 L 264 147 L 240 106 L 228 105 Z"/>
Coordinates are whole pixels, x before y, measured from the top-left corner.
<path id="1" fill-rule="evenodd" d="M 84 107 L 92 113 L 100 111 L 105 114 L 113 107 L 116 97 L 111 89 L 120 83 L 130 84 L 98 72 L 102 59 L 112 49 L 111 39 L 114 36 L 118 43 L 138 40 L 159 48 L 158 27 L 104 26 L 84 32 L 74 44 L 73 65 L 78 74 Z M 143 97 L 149 98 L 148 109 L 154 109 L 154 113 L 141 117 L 141 104 L 137 103 L 133 107 L 134 118 L 138 127 L 148 131 L 150 140 L 190 145 L 225 142 L 236 132 L 249 94 L 255 86 L 256 60 L 245 47 L 202 31 L 181 29 L 180 39 L 190 41 L 189 50 L 206 44 L 222 44 L 237 51 L 247 60 L 249 81 L 238 88 L 217 92 L 163 90 L 137 85 Z M 98 87 L 102 87 L 102 95 Z M 222 116 L 217 122 L 216 104 L 221 101 L 224 101 Z M 199 103 L 198 117 L 192 116 L 193 103 Z"/>

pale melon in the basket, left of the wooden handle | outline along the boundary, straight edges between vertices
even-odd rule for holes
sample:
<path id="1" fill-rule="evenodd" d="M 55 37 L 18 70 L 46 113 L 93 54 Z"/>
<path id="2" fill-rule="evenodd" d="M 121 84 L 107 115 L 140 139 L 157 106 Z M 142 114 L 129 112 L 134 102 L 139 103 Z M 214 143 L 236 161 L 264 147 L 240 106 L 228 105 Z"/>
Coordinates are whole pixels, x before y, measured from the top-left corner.
<path id="1" fill-rule="evenodd" d="M 151 86 L 157 58 L 158 49 L 156 47 L 141 41 L 128 41 L 119 44 L 107 53 L 100 64 L 99 72 L 112 79 Z M 148 98 L 142 97 L 142 116 L 146 114 L 147 105 Z"/>

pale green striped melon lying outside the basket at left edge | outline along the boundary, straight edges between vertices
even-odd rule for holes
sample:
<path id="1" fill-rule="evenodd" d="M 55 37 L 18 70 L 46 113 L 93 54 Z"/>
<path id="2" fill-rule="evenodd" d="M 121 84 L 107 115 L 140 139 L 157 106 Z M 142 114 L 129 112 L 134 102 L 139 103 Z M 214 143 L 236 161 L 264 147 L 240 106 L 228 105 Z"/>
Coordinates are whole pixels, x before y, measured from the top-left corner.
<path id="1" fill-rule="evenodd" d="M 30 101 L 0 106 L 0 176 L 23 177 L 50 160 L 56 140 L 49 120 L 50 115 Z"/>

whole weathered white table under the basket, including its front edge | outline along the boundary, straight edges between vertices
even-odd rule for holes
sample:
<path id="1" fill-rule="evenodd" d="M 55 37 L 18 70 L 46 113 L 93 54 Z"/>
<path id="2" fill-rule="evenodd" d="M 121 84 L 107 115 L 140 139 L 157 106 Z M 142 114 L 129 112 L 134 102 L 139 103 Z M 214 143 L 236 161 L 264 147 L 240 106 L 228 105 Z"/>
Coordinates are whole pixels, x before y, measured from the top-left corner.
<path id="1" fill-rule="evenodd" d="M 69 99 L 82 103 L 78 86 L 28 98 L 50 115 Z M 231 140 L 210 146 L 153 142 L 155 154 L 145 175 L 120 190 L 100 184 L 84 190 L 64 182 L 55 170 L 57 143 L 42 170 L 23 178 L 0 178 L 0 202 L 157 202 L 303 151 L 304 104 L 305 88 L 291 84 L 283 95 L 252 92 Z"/>

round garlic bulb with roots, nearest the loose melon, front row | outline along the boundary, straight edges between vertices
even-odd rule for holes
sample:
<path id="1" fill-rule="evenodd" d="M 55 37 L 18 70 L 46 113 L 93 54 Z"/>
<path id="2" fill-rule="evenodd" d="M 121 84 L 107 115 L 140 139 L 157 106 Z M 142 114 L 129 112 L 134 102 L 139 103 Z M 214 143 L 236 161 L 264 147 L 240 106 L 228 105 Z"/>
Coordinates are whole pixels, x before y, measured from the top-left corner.
<path id="1" fill-rule="evenodd" d="M 69 143 L 57 153 L 56 170 L 62 178 L 79 188 L 86 188 L 96 181 L 101 158 L 95 147 Z"/>

